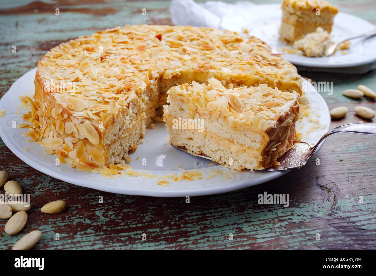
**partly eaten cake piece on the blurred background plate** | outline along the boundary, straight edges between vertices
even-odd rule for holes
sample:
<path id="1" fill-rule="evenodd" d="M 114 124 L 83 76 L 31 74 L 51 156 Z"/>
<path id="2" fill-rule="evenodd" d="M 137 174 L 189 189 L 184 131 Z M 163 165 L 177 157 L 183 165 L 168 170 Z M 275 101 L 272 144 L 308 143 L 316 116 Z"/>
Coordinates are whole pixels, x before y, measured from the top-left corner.
<path id="1" fill-rule="evenodd" d="M 289 43 L 314 32 L 317 27 L 331 33 L 333 18 L 338 12 L 337 6 L 318 0 L 284 0 L 281 8 L 279 35 Z"/>

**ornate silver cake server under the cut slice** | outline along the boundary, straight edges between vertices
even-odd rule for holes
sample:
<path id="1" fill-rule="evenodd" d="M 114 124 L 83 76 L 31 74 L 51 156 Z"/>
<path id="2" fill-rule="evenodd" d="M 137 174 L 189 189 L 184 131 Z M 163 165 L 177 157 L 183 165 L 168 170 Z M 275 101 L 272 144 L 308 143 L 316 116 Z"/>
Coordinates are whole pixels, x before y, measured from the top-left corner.
<path id="1" fill-rule="evenodd" d="M 290 171 L 292 169 L 302 168 L 308 160 L 313 156 L 317 147 L 323 142 L 328 136 L 337 133 L 358 133 L 366 135 L 376 135 L 376 124 L 368 123 L 355 123 L 355 124 L 344 124 L 343 126 L 335 127 L 325 133 L 318 142 L 311 146 L 308 142 L 301 141 L 295 143 L 288 151 L 277 159 L 279 165 L 272 165 L 269 168 L 261 169 L 261 171 Z M 190 153 L 185 147 L 177 147 L 180 150 Z M 196 156 L 212 160 L 203 154 L 196 154 Z"/>

